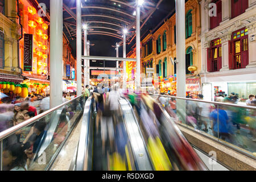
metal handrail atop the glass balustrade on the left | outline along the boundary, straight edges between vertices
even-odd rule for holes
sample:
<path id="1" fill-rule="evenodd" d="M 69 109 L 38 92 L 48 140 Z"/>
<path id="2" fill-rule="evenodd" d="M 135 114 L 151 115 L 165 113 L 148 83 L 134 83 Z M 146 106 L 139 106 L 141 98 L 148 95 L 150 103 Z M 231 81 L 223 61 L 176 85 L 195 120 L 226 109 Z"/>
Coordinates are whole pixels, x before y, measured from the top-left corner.
<path id="1" fill-rule="evenodd" d="M 18 125 L 15 125 L 13 127 L 10 127 L 9 129 L 5 130 L 5 131 L 2 131 L 0 133 L 0 141 L 9 137 L 10 135 L 14 134 L 16 131 L 18 131 L 19 129 L 22 129 L 23 127 L 26 127 L 28 125 L 31 125 L 32 123 L 35 123 L 36 121 L 38 121 L 39 119 L 45 117 L 46 115 L 48 115 L 49 113 L 52 113 L 53 111 L 59 109 L 60 107 L 63 107 L 67 104 L 69 104 L 70 102 L 72 101 L 75 101 L 77 100 L 78 98 L 82 97 L 83 95 L 81 96 L 78 96 L 78 97 L 75 97 L 73 98 L 72 100 L 70 101 L 67 101 L 67 102 L 64 102 L 63 104 L 59 105 L 59 106 L 56 106 L 56 107 L 53 107 L 52 109 L 49 109 L 47 111 L 45 111 L 44 113 L 42 114 L 39 114 L 39 115 L 36 115 L 35 117 L 31 118 L 31 119 L 28 119 L 27 121 L 24 121 L 22 123 L 19 123 Z"/>

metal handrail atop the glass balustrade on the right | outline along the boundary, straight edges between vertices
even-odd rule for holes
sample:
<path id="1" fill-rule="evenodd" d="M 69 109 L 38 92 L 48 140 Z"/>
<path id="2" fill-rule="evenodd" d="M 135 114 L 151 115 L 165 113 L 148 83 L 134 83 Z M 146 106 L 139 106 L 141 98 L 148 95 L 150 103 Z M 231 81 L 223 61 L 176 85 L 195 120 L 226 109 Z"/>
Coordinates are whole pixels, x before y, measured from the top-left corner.
<path id="1" fill-rule="evenodd" d="M 213 105 L 225 105 L 225 106 L 233 106 L 233 107 L 242 107 L 242 108 L 245 108 L 245 109 L 256 109 L 255 106 L 243 106 L 243 105 L 237 105 L 237 104 L 228 104 L 228 103 L 215 102 L 215 101 L 204 101 L 204 100 L 193 99 L 193 98 L 165 96 L 165 95 L 159 95 L 159 94 L 149 94 L 149 95 L 151 95 L 151 96 L 161 96 L 161 97 L 177 98 L 177 99 L 188 100 L 188 101 L 205 102 L 205 103 L 213 104 Z"/>

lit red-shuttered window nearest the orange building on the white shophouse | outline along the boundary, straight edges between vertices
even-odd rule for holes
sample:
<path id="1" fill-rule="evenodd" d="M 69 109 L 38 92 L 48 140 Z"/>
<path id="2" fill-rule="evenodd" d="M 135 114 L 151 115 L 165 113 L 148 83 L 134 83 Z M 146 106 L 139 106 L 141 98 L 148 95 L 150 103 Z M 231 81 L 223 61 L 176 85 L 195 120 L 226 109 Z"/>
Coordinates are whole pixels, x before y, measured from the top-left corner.
<path id="1" fill-rule="evenodd" d="M 217 72 L 222 68 L 222 46 L 221 39 L 213 40 L 210 44 L 210 55 L 207 60 L 207 71 Z"/>

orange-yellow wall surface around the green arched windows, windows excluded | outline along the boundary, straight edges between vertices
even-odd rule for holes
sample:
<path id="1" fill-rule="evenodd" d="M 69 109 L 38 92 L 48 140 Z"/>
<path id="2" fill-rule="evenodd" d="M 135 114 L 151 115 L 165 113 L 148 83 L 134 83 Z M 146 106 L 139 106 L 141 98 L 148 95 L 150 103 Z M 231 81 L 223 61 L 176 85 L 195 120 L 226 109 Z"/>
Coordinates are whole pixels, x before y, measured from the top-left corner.
<path id="1" fill-rule="evenodd" d="M 201 40 L 200 40 L 200 34 L 201 34 L 201 21 L 200 21 L 200 5 L 197 3 L 196 0 L 189 0 L 187 3 L 185 3 L 185 14 L 189 10 L 192 10 L 192 36 L 190 38 L 187 38 L 185 40 L 186 50 L 189 46 L 193 48 L 193 65 L 196 65 L 198 68 L 195 74 L 200 72 L 201 69 Z M 143 62 L 148 61 L 150 59 L 153 59 L 153 68 L 155 69 L 156 73 L 156 64 L 158 64 L 159 60 L 162 60 L 162 70 L 163 70 L 163 61 L 164 58 L 167 57 L 167 77 L 170 75 L 174 75 L 174 65 L 172 65 L 170 59 L 171 57 L 174 59 L 176 57 L 176 44 L 174 43 L 174 26 L 176 24 L 176 16 L 175 14 L 171 16 L 170 19 L 166 20 L 164 24 L 158 28 L 154 32 L 154 34 L 148 34 L 146 38 L 142 40 L 142 44 L 146 43 L 148 39 L 153 38 L 153 46 L 152 46 L 152 53 L 151 55 L 148 55 L 146 57 L 143 57 L 144 50 L 142 48 L 142 61 Z M 167 49 L 166 51 L 163 51 L 163 33 L 164 31 L 167 31 Z M 156 54 L 156 39 L 158 39 L 158 36 L 161 38 L 161 52 L 159 54 Z M 185 35 L 184 35 L 185 36 Z M 185 61 L 185 60 L 184 60 Z M 143 69 L 141 68 L 143 71 Z M 163 73 L 163 71 L 162 71 Z M 163 75 L 163 74 L 162 74 Z"/>

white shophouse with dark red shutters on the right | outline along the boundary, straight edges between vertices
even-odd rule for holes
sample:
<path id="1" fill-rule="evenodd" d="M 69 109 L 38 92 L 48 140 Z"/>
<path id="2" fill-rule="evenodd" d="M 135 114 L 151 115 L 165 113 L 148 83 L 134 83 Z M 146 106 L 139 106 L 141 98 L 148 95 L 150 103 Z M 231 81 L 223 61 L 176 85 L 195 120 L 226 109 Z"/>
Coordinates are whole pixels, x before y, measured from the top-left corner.
<path id="1" fill-rule="evenodd" d="M 210 17 L 210 3 L 217 16 Z M 200 5 L 204 99 L 213 101 L 217 92 L 243 99 L 256 94 L 256 0 L 202 0 Z"/>

